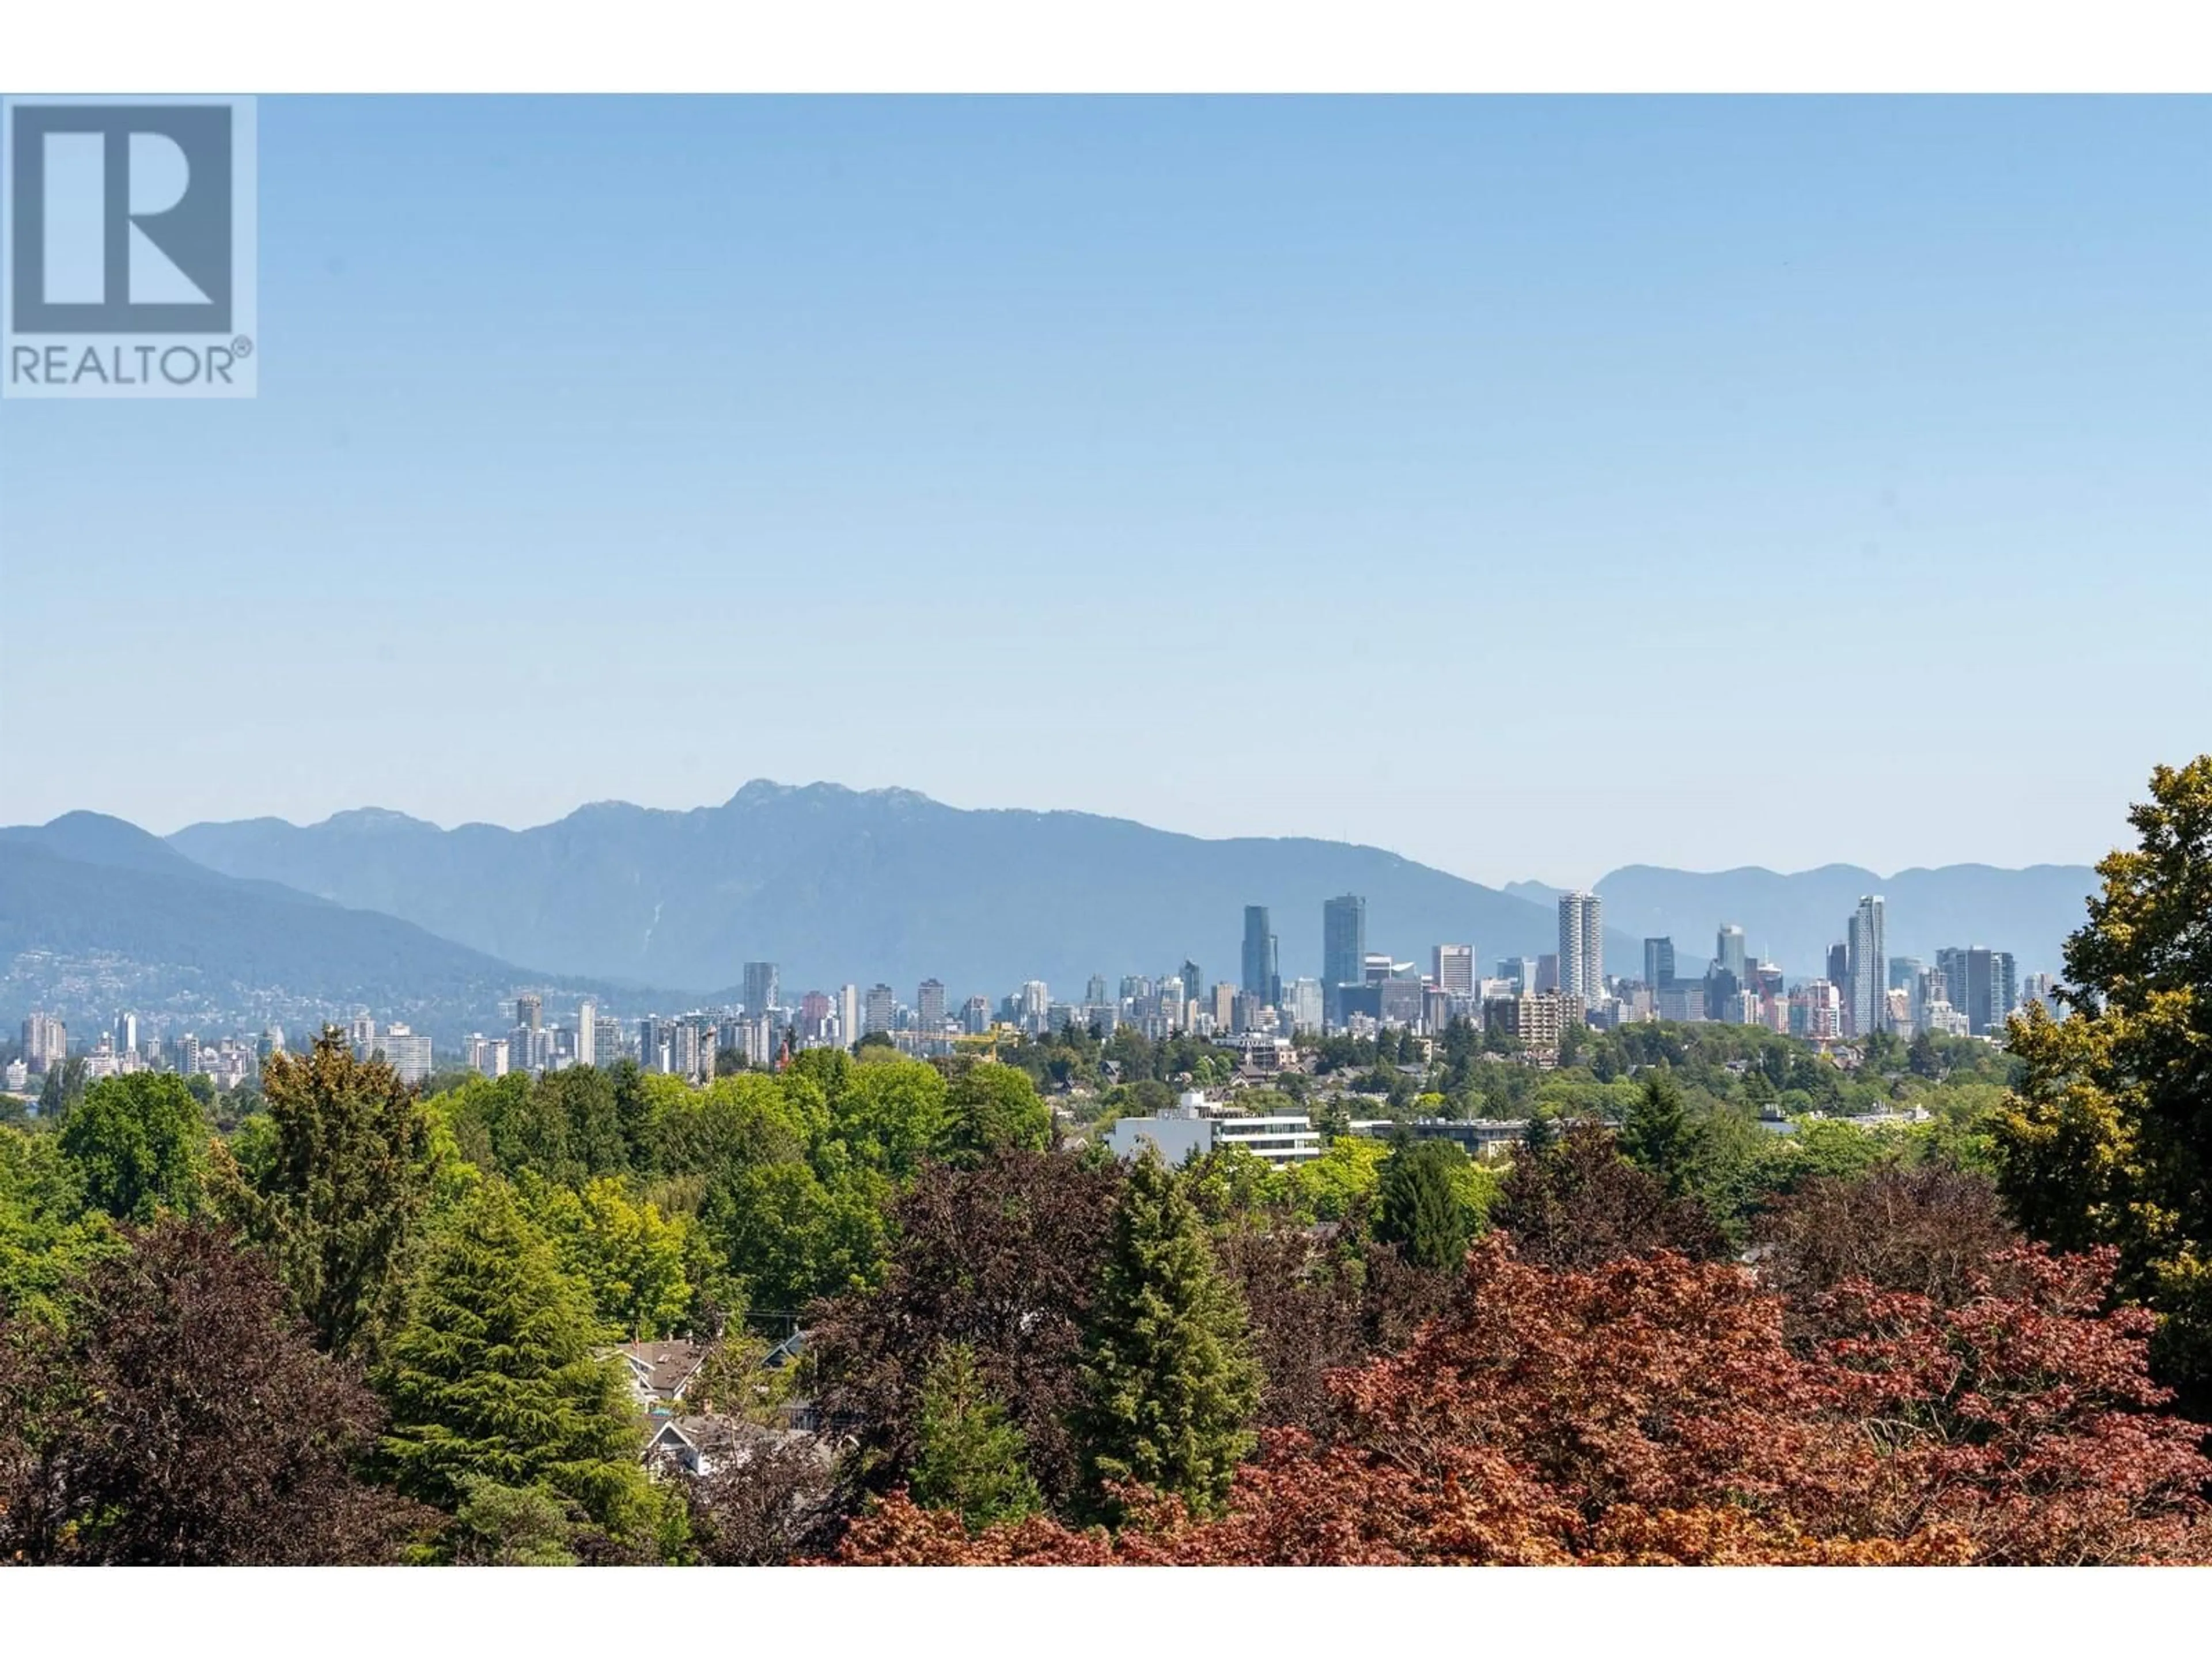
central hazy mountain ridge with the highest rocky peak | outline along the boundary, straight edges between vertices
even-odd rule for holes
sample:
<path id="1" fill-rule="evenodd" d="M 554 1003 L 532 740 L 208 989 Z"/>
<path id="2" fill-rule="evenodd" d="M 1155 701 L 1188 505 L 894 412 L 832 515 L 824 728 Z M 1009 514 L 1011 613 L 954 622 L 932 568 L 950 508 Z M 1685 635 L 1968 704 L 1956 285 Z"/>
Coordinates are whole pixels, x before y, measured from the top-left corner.
<path id="1" fill-rule="evenodd" d="M 1321 973 L 1321 905 L 1367 898 L 1367 945 L 1427 967 L 1436 942 L 1484 962 L 1557 949 L 1557 918 L 1378 847 L 1201 841 L 1084 812 L 960 810 L 914 790 L 754 781 L 719 807 L 602 801 L 533 830 L 440 830 L 389 812 L 319 825 L 199 823 L 170 845 L 378 909 L 504 960 L 655 984 L 719 984 L 772 960 L 792 993 L 845 980 L 958 1000 L 1044 980 L 1079 1000 L 1104 973 L 1199 962 L 1239 980 L 1245 905 L 1267 905 L 1285 980 Z M 1628 933 L 1608 962 L 1637 960 Z"/>

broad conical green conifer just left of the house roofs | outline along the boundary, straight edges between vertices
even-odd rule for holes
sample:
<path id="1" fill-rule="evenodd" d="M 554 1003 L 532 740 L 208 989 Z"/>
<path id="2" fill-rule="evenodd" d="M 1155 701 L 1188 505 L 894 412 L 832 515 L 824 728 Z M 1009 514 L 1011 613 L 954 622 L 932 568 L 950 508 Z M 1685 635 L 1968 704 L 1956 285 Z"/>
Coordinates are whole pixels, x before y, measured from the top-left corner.
<path id="1" fill-rule="evenodd" d="M 637 1462 L 644 1422 L 604 1338 L 507 1183 L 484 1181 L 434 1241 L 374 1374 L 394 1484 L 440 1509 L 473 1480 L 542 1484 L 611 1537 L 646 1542 L 659 1504 Z"/>

